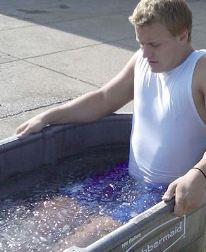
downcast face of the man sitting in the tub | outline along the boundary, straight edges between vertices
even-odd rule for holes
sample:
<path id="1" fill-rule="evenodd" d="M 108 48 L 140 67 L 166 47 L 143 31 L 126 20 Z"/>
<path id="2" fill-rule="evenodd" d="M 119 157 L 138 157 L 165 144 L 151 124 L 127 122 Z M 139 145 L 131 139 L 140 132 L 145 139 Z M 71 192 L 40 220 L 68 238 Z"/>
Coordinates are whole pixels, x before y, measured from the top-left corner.
<path id="1" fill-rule="evenodd" d="M 166 72 L 183 60 L 184 46 L 180 36 L 172 36 L 161 23 L 135 27 L 136 39 L 152 72 Z"/>

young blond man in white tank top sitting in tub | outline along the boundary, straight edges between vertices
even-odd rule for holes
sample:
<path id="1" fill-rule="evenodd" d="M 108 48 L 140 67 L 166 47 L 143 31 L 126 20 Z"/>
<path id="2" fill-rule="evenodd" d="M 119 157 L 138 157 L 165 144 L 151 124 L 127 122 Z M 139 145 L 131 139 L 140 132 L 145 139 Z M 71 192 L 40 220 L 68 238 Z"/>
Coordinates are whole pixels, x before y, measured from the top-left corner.
<path id="1" fill-rule="evenodd" d="M 20 125 L 19 137 L 48 124 L 91 122 L 134 99 L 129 172 L 169 184 L 177 215 L 206 201 L 206 50 L 191 46 L 184 0 L 141 0 L 130 21 L 138 50 L 104 87 Z M 195 169 L 194 169 L 195 167 Z"/>

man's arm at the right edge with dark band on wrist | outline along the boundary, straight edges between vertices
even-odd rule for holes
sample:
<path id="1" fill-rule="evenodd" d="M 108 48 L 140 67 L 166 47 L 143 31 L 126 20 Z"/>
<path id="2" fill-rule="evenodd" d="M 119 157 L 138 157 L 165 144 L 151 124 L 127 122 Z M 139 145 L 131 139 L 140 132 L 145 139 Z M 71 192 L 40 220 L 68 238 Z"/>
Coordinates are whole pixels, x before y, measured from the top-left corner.
<path id="1" fill-rule="evenodd" d="M 197 63 L 193 77 L 193 98 L 196 108 L 206 124 L 206 57 Z M 198 94 L 201 93 L 201 99 Z M 197 94 L 197 97 L 194 97 Z M 195 168 L 195 169 L 194 169 Z M 198 168 L 198 169 L 197 169 Z M 175 196 L 174 213 L 182 216 L 206 203 L 206 152 L 202 159 L 182 177 L 173 181 L 162 199 Z"/>

